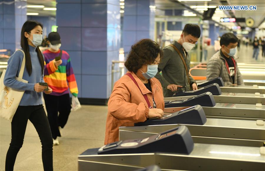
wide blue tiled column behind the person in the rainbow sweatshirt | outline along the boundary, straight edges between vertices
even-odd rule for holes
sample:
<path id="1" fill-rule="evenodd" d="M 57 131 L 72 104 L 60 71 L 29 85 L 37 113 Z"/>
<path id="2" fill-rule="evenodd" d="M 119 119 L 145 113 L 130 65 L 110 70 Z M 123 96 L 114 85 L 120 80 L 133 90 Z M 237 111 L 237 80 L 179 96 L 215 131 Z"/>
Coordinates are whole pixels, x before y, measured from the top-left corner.
<path id="1" fill-rule="evenodd" d="M 111 94 L 111 61 L 119 59 L 120 49 L 119 3 L 57 0 L 61 49 L 71 57 L 78 97 L 87 99 L 87 103 L 90 99 L 108 99 Z"/>

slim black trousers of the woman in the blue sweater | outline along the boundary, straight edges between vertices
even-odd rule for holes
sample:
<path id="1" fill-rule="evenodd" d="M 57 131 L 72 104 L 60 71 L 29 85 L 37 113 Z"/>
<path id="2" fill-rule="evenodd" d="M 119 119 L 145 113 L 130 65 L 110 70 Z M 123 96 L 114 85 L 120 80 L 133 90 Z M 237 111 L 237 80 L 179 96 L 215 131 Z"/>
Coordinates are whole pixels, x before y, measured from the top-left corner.
<path id="1" fill-rule="evenodd" d="M 6 154 L 6 171 L 13 170 L 16 155 L 23 145 L 28 119 L 34 125 L 42 143 L 42 163 L 44 170 L 53 170 L 52 133 L 43 105 L 19 106 L 11 122 L 11 143 Z"/>

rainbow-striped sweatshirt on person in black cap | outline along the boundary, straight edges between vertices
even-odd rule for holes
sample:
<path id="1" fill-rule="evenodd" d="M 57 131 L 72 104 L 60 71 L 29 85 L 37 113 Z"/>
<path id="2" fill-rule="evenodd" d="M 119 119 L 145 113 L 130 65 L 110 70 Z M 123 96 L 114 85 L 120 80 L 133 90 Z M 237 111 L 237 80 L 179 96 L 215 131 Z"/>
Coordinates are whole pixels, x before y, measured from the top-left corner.
<path id="1" fill-rule="evenodd" d="M 60 55 L 60 51 L 61 50 L 58 52 L 51 52 L 49 50 L 45 50 L 43 52 L 45 65 L 44 81 L 52 88 L 52 93 L 50 95 L 61 96 L 63 94 L 67 94 L 69 93 L 69 88 L 71 94 L 77 97 L 78 89 L 69 54 L 62 51 L 62 64 L 58 67 L 56 67 L 52 61 L 55 57 Z"/>

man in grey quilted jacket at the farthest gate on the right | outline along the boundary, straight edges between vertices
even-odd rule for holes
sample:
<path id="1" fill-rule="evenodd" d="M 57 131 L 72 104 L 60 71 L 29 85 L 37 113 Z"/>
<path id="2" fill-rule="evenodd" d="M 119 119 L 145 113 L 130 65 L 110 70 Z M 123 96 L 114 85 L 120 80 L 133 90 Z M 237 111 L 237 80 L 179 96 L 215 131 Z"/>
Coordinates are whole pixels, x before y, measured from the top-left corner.
<path id="1" fill-rule="evenodd" d="M 242 75 L 234 60 L 238 38 L 233 33 L 223 34 L 221 49 L 207 63 L 206 79 L 222 77 L 225 85 L 244 85 Z"/>

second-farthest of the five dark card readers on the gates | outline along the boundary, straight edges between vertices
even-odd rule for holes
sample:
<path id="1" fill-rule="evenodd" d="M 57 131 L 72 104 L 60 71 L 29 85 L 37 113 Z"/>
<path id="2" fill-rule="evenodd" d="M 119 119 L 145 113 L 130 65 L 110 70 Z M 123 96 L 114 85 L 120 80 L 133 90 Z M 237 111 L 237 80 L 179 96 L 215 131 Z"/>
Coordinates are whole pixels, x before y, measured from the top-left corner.
<path id="1" fill-rule="evenodd" d="M 221 95 L 221 89 L 217 83 L 213 83 L 211 85 L 199 88 L 198 90 L 193 91 L 184 91 L 173 94 L 173 97 L 179 97 L 179 96 L 196 96 L 200 95 L 206 92 L 211 92 L 213 95 Z"/>

